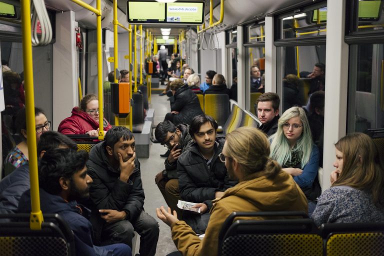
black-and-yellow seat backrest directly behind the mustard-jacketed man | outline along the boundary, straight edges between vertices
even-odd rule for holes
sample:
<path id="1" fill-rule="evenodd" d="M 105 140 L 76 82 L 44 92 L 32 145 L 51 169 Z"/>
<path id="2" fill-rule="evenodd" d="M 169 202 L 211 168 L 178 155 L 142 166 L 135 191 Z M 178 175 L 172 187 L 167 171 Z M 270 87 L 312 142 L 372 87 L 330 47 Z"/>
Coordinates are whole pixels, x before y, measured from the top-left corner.
<path id="1" fill-rule="evenodd" d="M 281 219 L 281 216 L 303 217 L 306 216 L 305 213 L 297 215 L 298 212 L 280 212 L 281 215 L 279 212 L 265 212 L 267 214 L 262 216 L 257 216 L 257 212 L 242 213 L 244 212 L 232 214 L 234 217 L 253 218 L 280 216 L 280 219 L 225 221 L 219 234 L 219 255 L 322 255 L 322 238 L 311 219 Z M 232 214 L 227 220 L 233 216 Z"/>

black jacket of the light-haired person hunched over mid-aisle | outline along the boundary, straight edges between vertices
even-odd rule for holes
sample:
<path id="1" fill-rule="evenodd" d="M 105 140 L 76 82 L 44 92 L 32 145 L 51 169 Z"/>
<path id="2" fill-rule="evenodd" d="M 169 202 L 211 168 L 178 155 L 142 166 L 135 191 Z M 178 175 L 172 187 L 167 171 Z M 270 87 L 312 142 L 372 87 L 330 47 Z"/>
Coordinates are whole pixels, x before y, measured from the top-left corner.
<path id="1" fill-rule="evenodd" d="M 173 117 L 174 125 L 180 123 L 190 124 L 193 117 L 204 112 L 201 110 L 200 102 L 196 94 L 188 87 L 188 84 L 182 85 L 176 90 L 176 93 L 169 99 L 170 110 L 178 111 Z"/>

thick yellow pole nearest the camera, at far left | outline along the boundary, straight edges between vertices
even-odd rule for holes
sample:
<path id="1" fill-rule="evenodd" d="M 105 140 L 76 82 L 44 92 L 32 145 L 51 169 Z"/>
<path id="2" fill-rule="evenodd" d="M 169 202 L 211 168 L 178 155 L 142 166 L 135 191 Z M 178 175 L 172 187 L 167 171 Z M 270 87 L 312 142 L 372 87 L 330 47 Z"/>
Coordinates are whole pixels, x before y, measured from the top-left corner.
<path id="1" fill-rule="evenodd" d="M 22 29 L 22 55 L 24 68 L 25 86 L 25 112 L 26 133 L 28 138 L 28 158 L 30 177 L 30 199 L 31 212 L 29 217 L 30 229 L 41 229 L 44 221 L 40 209 L 40 195 L 38 190 L 37 174 L 37 149 L 36 149 L 36 124 L 34 113 L 34 91 L 33 91 L 33 62 L 32 62 L 32 39 L 30 25 L 30 1 L 21 1 L 21 29 Z"/>

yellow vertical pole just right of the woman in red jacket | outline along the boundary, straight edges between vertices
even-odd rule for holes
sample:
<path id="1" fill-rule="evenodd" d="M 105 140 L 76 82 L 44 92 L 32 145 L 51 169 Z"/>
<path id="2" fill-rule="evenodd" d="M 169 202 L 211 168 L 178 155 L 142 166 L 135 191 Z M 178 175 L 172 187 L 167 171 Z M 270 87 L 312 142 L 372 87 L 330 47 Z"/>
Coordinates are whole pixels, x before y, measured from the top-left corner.
<path id="1" fill-rule="evenodd" d="M 103 128 L 103 91 L 102 91 L 102 55 L 101 55 L 101 0 L 96 1 L 96 8 L 99 14 L 96 14 L 96 35 L 97 35 L 97 82 L 98 82 L 98 139 L 104 139 L 104 128 Z"/>

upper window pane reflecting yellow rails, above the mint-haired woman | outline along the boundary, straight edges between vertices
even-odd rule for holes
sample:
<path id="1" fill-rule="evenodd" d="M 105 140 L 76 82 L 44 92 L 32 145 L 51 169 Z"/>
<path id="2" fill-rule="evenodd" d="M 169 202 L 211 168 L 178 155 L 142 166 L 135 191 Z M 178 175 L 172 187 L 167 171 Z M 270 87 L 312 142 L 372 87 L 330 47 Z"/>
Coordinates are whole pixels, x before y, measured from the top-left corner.
<path id="1" fill-rule="evenodd" d="M 326 6 L 280 19 L 280 38 L 312 37 L 326 34 Z"/>

